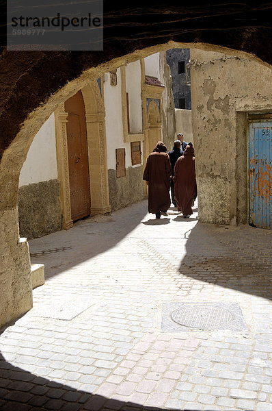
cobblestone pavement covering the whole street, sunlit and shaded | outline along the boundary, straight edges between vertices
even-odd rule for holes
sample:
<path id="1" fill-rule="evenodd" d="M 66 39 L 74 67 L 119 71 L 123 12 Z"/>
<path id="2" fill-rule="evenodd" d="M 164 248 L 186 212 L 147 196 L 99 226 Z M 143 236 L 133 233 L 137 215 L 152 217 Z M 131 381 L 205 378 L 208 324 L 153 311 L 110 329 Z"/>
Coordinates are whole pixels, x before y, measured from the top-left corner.
<path id="1" fill-rule="evenodd" d="M 46 284 L 1 332 L 1 411 L 272 410 L 272 233 L 146 207 L 29 242 Z M 169 318 L 174 303 L 213 302 L 244 322 Z"/>

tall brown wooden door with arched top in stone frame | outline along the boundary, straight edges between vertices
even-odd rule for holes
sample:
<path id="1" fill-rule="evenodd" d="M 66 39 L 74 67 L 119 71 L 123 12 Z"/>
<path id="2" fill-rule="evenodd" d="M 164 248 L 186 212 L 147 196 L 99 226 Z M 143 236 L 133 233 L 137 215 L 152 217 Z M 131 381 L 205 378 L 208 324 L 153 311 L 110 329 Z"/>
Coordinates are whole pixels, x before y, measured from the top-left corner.
<path id="1" fill-rule="evenodd" d="M 85 106 L 80 90 L 66 101 L 65 111 L 68 112 L 71 218 L 76 221 L 89 216 L 91 208 Z"/>

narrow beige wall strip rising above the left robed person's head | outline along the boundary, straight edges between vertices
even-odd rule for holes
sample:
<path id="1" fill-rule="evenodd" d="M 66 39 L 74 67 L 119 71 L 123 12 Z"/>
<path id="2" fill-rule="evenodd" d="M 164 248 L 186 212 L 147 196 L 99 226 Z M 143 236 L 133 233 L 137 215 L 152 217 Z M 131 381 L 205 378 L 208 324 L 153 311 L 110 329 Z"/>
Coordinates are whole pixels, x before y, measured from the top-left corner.
<path id="1" fill-rule="evenodd" d="M 166 51 L 160 53 L 160 76 L 165 85 L 162 95 L 163 142 L 168 151 L 172 150 L 176 132 L 175 105 L 172 92 L 172 77 L 166 62 Z"/>

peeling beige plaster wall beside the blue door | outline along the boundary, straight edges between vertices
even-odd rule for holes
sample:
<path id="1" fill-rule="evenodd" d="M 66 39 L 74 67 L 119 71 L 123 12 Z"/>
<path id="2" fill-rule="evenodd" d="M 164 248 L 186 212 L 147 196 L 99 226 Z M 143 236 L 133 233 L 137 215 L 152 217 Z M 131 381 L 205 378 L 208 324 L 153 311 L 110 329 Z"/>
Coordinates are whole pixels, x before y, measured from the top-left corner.
<path id="1" fill-rule="evenodd" d="M 247 113 L 271 110 L 271 69 L 198 49 L 191 61 L 199 218 L 247 223 Z"/>

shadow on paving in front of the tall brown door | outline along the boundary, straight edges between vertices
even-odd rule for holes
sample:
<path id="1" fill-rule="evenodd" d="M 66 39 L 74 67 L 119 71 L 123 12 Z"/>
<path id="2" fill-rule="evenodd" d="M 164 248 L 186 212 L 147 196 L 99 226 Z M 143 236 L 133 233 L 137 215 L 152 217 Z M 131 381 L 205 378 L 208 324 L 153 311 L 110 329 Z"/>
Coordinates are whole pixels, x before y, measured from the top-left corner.
<path id="1" fill-rule="evenodd" d="M 113 215 L 98 214 L 77 221 L 68 231 L 62 230 L 29 240 L 31 264 L 44 264 L 45 277 L 51 278 L 104 253 L 139 225 L 148 212 L 147 201 L 141 203 L 141 207 L 139 203 L 135 203 L 134 209 L 134 205 L 130 206 L 125 216 L 124 209 L 114 212 Z"/>

